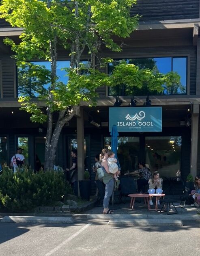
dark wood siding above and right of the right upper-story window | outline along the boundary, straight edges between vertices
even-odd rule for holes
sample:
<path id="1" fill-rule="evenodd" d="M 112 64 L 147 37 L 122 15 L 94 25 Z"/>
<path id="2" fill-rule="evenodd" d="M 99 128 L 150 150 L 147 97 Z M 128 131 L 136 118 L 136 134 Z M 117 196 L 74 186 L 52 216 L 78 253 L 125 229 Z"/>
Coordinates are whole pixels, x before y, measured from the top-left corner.
<path id="1" fill-rule="evenodd" d="M 173 47 L 148 47 L 123 49 L 123 52 L 103 52 L 104 56 L 110 56 L 113 59 L 140 58 L 140 57 L 158 57 L 158 56 L 189 56 L 189 95 L 196 95 L 196 47 L 194 46 L 173 46 Z M 102 69 L 105 72 L 106 69 Z M 106 95 L 106 87 L 97 89 L 99 96 Z"/>

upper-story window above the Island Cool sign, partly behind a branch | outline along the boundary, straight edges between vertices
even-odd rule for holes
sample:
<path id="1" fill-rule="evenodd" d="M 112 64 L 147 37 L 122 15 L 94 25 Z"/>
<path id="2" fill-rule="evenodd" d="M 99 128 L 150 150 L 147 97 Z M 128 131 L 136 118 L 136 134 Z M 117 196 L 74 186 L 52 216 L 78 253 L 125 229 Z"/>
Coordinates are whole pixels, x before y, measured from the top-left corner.
<path id="1" fill-rule="evenodd" d="M 119 85 L 117 87 L 109 88 L 109 95 L 129 96 L 133 91 L 136 96 L 144 96 L 147 93 L 150 95 L 173 95 L 173 94 L 186 94 L 187 93 L 187 57 L 159 57 L 159 58 L 141 58 L 141 59 L 124 59 L 127 64 L 134 64 L 140 69 L 149 68 L 155 73 L 177 72 L 181 76 L 179 85 L 174 85 L 170 88 L 165 88 L 162 93 L 157 91 L 149 91 L 144 83 L 141 89 L 137 87 L 130 88 L 126 85 Z M 114 60 L 108 65 L 108 74 L 112 74 L 114 66 L 119 65 L 122 59 Z"/>

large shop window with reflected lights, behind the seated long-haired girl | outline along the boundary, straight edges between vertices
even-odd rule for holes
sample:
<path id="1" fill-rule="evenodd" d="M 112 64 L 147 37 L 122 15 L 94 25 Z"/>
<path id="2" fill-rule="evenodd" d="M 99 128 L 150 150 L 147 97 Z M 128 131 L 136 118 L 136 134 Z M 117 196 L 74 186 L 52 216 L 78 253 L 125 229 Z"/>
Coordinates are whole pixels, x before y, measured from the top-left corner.
<path id="1" fill-rule="evenodd" d="M 151 173 L 175 177 L 181 169 L 181 136 L 145 137 L 145 163 Z"/>

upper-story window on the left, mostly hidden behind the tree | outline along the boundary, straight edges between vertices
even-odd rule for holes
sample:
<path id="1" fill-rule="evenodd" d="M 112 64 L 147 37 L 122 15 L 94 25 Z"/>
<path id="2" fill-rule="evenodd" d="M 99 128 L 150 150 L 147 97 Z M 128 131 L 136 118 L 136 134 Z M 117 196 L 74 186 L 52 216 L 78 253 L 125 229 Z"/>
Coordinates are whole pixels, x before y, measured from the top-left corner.
<path id="1" fill-rule="evenodd" d="M 31 61 L 33 65 L 45 66 L 47 70 L 51 70 L 51 63 L 49 61 Z M 89 61 L 81 61 L 84 67 L 89 67 Z M 67 85 L 68 76 L 64 68 L 69 68 L 70 61 L 57 61 L 56 74 L 58 76 L 57 82 L 63 82 Z M 39 80 L 37 77 L 28 77 L 30 67 L 24 69 L 17 69 L 17 95 L 22 94 L 28 95 L 30 97 L 38 97 L 39 95 L 45 95 L 50 83 L 44 83 L 44 81 Z M 83 72 L 83 71 L 82 71 Z"/>

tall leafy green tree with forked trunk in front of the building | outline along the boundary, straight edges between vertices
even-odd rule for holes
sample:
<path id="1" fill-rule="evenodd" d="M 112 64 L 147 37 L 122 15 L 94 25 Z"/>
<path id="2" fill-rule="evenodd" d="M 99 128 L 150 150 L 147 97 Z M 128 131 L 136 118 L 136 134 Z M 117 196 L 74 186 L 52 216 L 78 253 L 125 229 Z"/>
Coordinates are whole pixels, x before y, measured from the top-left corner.
<path id="1" fill-rule="evenodd" d="M 130 87 L 142 88 L 142 81 L 146 80 L 153 90 L 161 91 L 163 80 L 168 80 L 164 76 L 153 75 L 148 69 L 140 70 L 135 65 L 122 64 L 121 72 L 120 66 L 117 66 L 112 76 L 99 72 L 92 66 L 94 56 L 99 61 L 99 67 L 112 62 L 108 58 L 100 58 L 99 51 L 103 47 L 117 52 L 122 50 L 123 43 L 118 45 L 112 36 L 129 37 L 137 26 L 139 16 L 130 17 L 129 14 L 133 4 L 136 4 L 136 0 L 2 0 L 1 17 L 13 27 L 24 28 L 19 44 L 9 38 L 4 42 L 11 46 L 18 69 L 24 72 L 20 79 L 26 80 L 26 90 L 25 95 L 19 97 L 19 101 L 31 114 L 30 119 L 33 122 L 47 122 L 46 168 L 51 169 L 54 165 L 58 138 L 63 126 L 75 115 L 80 102 L 89 102 L 90 106 L 96 103 L 97 87 L 114 86 L 118 79 L 122 79 Z M 56 73 L 58 57 L 61 54 L 58 49 L 69 54 L 70 65 L 65 68 L 68 74 L 67 83 L 60 82 Z M 81 62 L 86 54 L 90 60 L 87 69 Z M 34 59 L 49 61 L 51 69 L 34 65 L 31 62 Z M 39 100 L 44 101 L 45 111 L 39 108 L 39 101 L 32 102 L 32 92 L 27 93 L 30 79 L 33 82 L 33 91 L 38 94 Z M 47 89 L 42 89 L 41 85 L 48 85 Z M 59 114 L 53 128 L 55 111 Z"/>

